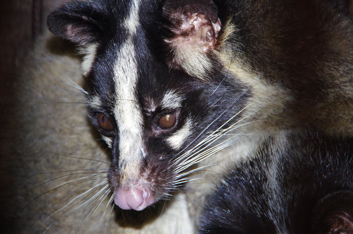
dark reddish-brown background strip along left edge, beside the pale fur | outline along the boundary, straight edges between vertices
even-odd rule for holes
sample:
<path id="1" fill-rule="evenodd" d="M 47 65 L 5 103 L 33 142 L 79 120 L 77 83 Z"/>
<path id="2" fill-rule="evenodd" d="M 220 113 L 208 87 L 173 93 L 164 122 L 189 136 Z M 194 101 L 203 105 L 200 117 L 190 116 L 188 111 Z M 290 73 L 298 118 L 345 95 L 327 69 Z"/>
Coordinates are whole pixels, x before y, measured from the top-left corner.
<path id="1" fill-rule="evenodd" d="M 8 144 L 13 141 L 11 135 L 16 134 L 11 127 L 16 125 L 16 119 L 10 117 L 11 100 L 16 92 L 13 83 L 26 51 L 46 29 L 47 15 L 62 2 L 64 0 L 0 0 L 0 232 L 6 226 L 4 217 L 11 212 L 8 194 L 16 187 L 12 182 L 14 169 L 10 167 L 16 156 Z"/>

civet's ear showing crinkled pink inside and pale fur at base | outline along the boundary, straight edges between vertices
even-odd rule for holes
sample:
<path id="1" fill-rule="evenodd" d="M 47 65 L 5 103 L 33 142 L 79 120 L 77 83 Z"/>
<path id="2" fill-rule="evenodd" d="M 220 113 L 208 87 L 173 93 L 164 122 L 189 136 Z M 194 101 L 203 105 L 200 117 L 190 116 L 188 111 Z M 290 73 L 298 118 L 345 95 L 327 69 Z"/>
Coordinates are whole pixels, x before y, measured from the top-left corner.
<path id="1" fill-rule="evenodd" d="M 216 47 L 221 22 L 218 10 L 208 0 L 167 0 L 163 15 L 170 35 L 166 43 L 172 52 L 170 65 L 184 69 L 193 76 L 202 76 L 211 69 L 208 53 Z"/>

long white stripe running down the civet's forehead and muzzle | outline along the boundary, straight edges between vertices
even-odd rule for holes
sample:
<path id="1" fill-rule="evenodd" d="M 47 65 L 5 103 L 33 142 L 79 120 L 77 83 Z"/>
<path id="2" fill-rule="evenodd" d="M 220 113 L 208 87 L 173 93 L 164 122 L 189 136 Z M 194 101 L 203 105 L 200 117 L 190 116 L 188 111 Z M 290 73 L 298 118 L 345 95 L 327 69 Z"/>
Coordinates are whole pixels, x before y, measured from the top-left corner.
<path id="1" fill-rule="evenodd" d="M 139 1 L 134 1 L 130 16 L 124 25 L 130 35 L 120 47 L 115 67 L 115 109 L 114 115 L 119 129 L 119 167 L 124 177 L 137 177 L 141 160 L 142 113 L 138 107 L 136 84 L 138 80 L 135 48 L 132 38 L 138 27 Z M 126 162 L 126 168 L 122 163 Z"/>

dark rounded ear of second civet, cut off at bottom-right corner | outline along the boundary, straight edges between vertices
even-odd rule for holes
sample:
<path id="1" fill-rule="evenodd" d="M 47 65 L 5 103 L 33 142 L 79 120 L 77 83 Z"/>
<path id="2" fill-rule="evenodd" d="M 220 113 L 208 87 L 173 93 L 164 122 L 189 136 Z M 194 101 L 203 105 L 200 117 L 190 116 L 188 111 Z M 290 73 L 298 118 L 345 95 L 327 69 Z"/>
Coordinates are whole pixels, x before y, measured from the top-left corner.
<path id="1" fill-rule="evenodd" d="M 329 194 L 316 205 L 312 216 L 312 233 L 353 233 L 353 192 Z"/>

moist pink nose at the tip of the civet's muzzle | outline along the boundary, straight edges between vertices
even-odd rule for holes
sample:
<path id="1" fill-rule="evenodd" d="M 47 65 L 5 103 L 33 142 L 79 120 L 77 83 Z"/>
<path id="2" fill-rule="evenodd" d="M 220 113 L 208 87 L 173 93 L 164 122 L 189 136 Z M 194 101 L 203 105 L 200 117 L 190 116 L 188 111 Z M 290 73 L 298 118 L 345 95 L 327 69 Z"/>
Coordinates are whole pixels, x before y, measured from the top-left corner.
<path id="1" fill-rule="evenodd" d="M 124 210 L 143 210 L 154 203 L 151 193 L 144 187 L 123 190 L 115 189 L 114 203 Z"/>

